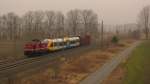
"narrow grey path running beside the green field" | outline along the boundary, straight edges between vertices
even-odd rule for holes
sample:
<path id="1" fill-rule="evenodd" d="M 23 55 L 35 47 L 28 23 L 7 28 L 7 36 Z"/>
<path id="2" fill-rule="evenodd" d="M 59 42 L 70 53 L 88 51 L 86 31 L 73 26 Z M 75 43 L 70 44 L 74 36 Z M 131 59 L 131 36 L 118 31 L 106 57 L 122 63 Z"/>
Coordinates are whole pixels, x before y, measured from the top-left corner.
<path id="1" fill-rule="evenodd" d="M 140 42 L 134 43 L 131 47 L 121 52 L 117 57 L 108 61 L 103 67 L 99 68 L 96 72 L 81 81 L 80 84 L 100 84 L 109 74 L 125 60 L 131 51 L 139 45 Z"/>

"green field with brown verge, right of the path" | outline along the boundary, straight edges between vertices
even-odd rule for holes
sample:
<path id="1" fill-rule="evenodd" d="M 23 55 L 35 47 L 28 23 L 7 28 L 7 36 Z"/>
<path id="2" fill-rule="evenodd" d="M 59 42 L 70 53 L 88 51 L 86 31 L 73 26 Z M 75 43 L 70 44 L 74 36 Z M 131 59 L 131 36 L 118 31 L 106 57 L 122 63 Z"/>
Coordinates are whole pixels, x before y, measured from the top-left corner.
<path id="1" fill-rule="evenodd" d="M 144 41 L 103 84 L 150 84 L 150 41 Z"/>

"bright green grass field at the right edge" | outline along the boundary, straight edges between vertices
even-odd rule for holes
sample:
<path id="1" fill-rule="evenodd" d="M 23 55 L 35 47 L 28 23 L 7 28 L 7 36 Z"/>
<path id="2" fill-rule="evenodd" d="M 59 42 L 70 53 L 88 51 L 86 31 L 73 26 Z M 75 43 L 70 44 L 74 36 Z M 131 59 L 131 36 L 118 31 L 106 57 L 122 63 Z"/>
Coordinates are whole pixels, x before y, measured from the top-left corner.
<path id="1" fill-rule="evenodd" d="M 124 84 L 150 84 L 150 41 L 139 45 L 125 64 Z"/>

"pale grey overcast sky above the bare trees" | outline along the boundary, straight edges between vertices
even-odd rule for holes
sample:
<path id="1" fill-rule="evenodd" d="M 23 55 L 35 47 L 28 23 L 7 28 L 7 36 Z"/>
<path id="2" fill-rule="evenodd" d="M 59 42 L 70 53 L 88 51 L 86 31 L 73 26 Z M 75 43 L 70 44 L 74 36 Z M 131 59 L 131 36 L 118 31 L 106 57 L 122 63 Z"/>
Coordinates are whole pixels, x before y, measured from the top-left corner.
<path id="1" fill-rule="evenodd" d="M 0 0 L 0 14 L 29 10 L 54 10 L 66 13 L 70 9 L 92 9 L 107 24 L 135 23 L 139 11 L 150 0 Z"/>

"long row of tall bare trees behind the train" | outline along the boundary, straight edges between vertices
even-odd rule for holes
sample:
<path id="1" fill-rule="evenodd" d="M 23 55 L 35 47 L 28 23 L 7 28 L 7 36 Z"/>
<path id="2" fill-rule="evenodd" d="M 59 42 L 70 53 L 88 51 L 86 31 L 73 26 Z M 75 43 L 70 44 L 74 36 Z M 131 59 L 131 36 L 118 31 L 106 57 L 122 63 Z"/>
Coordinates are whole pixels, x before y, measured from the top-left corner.
<path id="1" fill-rule="evenodd" d="M 65 15 L 55 11 L 10 12 L 0 16 L 0 40 L 32 40 L 65 36 L 98 36 L 98 15 L 74 9 Z"/>

